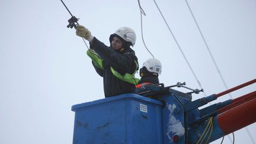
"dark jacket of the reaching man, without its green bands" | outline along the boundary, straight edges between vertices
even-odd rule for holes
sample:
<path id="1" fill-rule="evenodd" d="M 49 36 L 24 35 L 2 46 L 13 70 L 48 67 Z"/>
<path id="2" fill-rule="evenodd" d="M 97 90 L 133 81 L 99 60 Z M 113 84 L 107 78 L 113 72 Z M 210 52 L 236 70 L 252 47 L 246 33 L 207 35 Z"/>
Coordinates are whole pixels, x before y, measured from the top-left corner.
<path id="1" fill-rule="evenodd" d="M 114 95 L 133 93 L 135 91 L 135 85 L 122 81 L 113 75 L 110 70 L 110 66 L 121 75 L 125 73 L 134 73 L 137 71 L 136 63 L 137 57 L 135 52 L 126 47 L 122 52 L 105 46 L 100 40 L 94 39 L 90 43 L 90 49 L 95 50 L 96 53 L 103 59 L 103 70 L 95 66 L 96 72 L 103 77 L 104 94 L 105 97 L 112 97 Z M 138 62 L 137 62 L 138 63 Z"/>

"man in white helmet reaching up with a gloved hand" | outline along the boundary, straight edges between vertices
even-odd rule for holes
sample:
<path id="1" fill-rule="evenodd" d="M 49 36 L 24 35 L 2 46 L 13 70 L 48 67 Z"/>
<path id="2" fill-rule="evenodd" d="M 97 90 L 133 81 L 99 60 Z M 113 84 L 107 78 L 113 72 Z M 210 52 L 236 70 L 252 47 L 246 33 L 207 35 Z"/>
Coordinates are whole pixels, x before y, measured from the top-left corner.
<path id="1" fill-rule="evenodd" d="M 103 77 L 105 97 L 133 93 L 139 79 L 135 73 L 139 69 L 137 57 L 130 46 L 135 45 L 136 34 L 132 28 L 121 27 L 110 35 L 110 47 L 106 46 L 83 25 L 76 25 L 76 35 L 89 41 L 87 55 L 92 65 Z"/>

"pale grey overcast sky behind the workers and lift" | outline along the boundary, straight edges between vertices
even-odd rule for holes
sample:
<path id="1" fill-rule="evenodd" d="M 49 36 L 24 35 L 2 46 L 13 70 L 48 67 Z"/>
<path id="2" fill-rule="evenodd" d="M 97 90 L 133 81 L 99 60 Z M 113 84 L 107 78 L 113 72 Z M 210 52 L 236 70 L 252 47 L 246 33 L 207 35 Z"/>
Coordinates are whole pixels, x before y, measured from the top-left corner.
<path id="1" fill-rule="evenodd" d="M 139 65 L 151 57 L 142 43 L 137 1 L 64 2 L 80 18 L 79 24 L 107 45 L 117 28 L 133 28 Z M 224 91 L 185 1 L 156 2 L 206 94 Z M 146 46 L 162 62 L 160 81 L 165 85 L 186 82 L 187 87 L 200 88 L 154 2 L 140 3 L 146 12 Z M 256 1 L 188 3 L 228 87 L 255 79 Z M 72 143 L 75 113 L 71 106 L 104 98 L 104 92 L 103 80 L 86 55 L 87 47 L 74 29 L 66 28 L 71 16 L 60 1 L 2 0 L 0 9 L 0 143 Z M 232 97 L 255 88 L 254 84 L 232 92 Z M 200 97 L 203 93 L 193 95 L 193 100 Z M 215 103 L 229 98 L 225 95 Z M 247 128 L 256 142 L 256 124 Z M 235 132 L 235 143 L 244 142 L 252 143 L 247 131 Z M 225 143 L 231 143 L 228 137 Z"/>

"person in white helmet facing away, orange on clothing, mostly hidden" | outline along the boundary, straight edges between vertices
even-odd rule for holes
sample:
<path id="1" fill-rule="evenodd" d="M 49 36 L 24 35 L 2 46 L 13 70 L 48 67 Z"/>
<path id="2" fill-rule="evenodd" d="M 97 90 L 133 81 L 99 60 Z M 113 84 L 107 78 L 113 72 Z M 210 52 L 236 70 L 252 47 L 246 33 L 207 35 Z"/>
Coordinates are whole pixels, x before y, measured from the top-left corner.
<path id="1" fill-rule="evenodd" d="M 158 76 L 162 72 L 162 64 L 158 59 L 151 58 L 143 63 L 142 68 L 140 68 L 140 81 L 136 88 L 140 88 L 144 85 L 156 84 L 159 85 Z"/>

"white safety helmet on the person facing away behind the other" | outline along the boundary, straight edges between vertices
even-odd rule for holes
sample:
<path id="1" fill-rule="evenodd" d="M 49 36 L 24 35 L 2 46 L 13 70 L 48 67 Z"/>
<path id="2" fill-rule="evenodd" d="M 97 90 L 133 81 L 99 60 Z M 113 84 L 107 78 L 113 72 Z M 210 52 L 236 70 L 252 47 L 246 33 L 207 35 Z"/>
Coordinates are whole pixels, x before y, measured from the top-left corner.
<path id="1" fill-rule="evenodd" d="M 162 64 L 158 59 L 155 59 L 155 58 L 148 59 L 146 60 L 145 63 L 143 63 L 142 68 L 144 66 L 149 72 L 155 72 L 155 73 L 158 73 L 159 75 L 162 72 Z"/>

